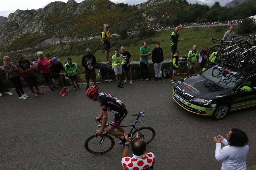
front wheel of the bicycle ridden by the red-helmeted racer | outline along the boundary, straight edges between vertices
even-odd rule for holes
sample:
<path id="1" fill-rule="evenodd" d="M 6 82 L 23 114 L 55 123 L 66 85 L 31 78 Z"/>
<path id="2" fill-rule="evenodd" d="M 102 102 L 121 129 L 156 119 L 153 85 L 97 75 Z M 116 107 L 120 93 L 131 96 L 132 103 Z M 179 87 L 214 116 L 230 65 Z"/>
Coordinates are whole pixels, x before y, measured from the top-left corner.
<path id="1" fill-rule="evenodd" d="M 114 139 L 109 135 L 90 136 L 84 143 L 84 148 L 95 155 L 105 154 L 115 146 Z"/>

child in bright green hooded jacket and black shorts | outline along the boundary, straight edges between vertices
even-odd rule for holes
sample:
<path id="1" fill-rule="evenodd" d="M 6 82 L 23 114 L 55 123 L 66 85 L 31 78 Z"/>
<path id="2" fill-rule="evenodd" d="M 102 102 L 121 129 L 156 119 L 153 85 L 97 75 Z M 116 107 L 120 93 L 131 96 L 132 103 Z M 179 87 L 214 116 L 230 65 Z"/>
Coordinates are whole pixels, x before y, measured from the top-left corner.
<path id="1" fill-rule="evenodd" d="M 72 61 L 70 57 L 68 57 L 67 61 L 68 62 L 65 64 L 65 71 L 68 73 L 71 83 L 74 86 L 73 90 L 76 90 L 77 88 L 81 89 L 81 87 L 78 84 L 76 75 L 77 65 Z M 75 86 L 74 81 L 76 82 L 77 86 Z"/>

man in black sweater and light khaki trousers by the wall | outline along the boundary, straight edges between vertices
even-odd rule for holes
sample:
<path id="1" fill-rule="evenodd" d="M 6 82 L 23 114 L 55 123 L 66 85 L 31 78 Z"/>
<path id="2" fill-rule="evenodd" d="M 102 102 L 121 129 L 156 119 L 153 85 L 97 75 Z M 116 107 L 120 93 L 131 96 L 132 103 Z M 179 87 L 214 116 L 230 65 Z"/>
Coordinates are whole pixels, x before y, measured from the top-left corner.
<path id="1" fill-rule="evenodd" d="M 152 51 L 152 62 L 154 63 L 154 69 L 155 69 L 155 81 L 157 79 L 163 80 L 161 78 L 161 68 L 164 61 L 164 55 L 163 55 L 163 49 L 160 48 L 160 43 L 156 43 L 156 47 Z"/>

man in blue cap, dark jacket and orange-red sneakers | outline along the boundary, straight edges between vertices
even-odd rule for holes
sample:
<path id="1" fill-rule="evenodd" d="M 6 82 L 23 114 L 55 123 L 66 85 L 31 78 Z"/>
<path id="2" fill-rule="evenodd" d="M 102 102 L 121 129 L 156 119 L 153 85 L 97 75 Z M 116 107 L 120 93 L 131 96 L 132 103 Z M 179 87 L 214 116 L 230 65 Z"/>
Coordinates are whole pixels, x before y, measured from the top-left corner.
<path id="1" fill-rule="evenodd" d="M 60 94 L 62 96 L 65 96 L 66 94 L 63 91 L 69 91 L 69 89 L 65 86 L 62 77 L 63 75 L 66 75 L 65 68 L 57 57 L 53 57 L 51 61 L 52 62 L 50 63 L 49 69 L 50 75 L 52 77 L 52 82 L 60 90 Z M 59 83 L 62 85 L 62 90 Z"/>

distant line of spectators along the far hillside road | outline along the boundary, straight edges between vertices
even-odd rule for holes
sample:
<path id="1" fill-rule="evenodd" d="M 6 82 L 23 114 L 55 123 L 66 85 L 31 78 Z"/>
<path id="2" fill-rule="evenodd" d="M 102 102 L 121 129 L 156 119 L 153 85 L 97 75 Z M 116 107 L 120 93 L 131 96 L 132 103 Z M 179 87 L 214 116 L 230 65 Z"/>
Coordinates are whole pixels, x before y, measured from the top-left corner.
<path id="1" fill-rule="evenodd" d="M 253 19 L 253 20 L 254 20 L 254 23 L 256 23 L 256 19 Z M 242 22 L 241 19 L 236 19 L 236 20 L 223 21 L 223 22 L 208 21 L 208 22 L 194 22 L 194 23 L 185 23 L 185 24 L 179 24 L 179 25 L 167 25 L 167 26 L 163 26 L 163 25 L 157 23 L 157 24 L 152 25 L 152 26 L 151 25 L 147 25 L 147 27 L 149 29 L 153 29 L 153 30 L 157 31 L 157 30 L 174 29 L 177 26 L 179 28 L 185 28 L 185 27 L 187 27 L 187 28 L 194 28 L 194 27 L 205 28 L 206 26 L 211 27 L 211 26 L 217 26 L 217 25 L 222 25 L 222 24 L 238 25 L 241 22 Z M 131 34 L 131 33 L 135 34 L 137 32 L 138 31 L 133 30 L 133 31 L 127 32 L 127 34 Z M 113 33 L 112 35 L 118 36 L 117 33 Z M 76 38 L 76 39 L 65 40 L 65 41 L 62 41 L 62 43 L 77 42 L 77 41 L 87 41 L 87 40 L 99 39 L 99 38 L 101 38 L 101 36 L 97 35 L 97 36 L 90 36 L 90 37 L 87 37 L 87 38 L 84 37 L 84 38 Z M 11 50 L 11 51 L 7 51 L 7 52 L 1 51 L 0 55 L 1 54 L 9 54 L 9 53 L 14 53 L 14 52 L 25 51 L 25 50 L 33 49 L 33 48 L 40 48 L 40 47 L 44 47 L 44 46 L 48 46 L 48 45 L 52 45 L 52 44 L 59 44 L 59 43 L 60 43 L 60 41 L 57 41 L 57 42 L 46 43 L 44 45 L 35 45 L 35 46 L 24 48 L 24 49 Z"/>

